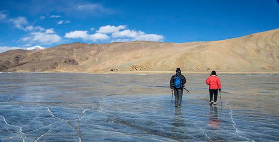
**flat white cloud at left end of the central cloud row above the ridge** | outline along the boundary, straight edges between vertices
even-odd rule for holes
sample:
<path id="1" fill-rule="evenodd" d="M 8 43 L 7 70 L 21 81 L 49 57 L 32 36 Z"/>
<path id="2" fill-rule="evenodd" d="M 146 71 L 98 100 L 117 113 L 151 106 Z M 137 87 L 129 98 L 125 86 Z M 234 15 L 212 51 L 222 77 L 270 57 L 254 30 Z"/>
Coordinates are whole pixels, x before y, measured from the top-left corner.
<path id="1" fill-rule="evenodd" d="M 97 41 L 97 40 L 105 40 L 109 39 L 109 36 L 104 33 L 95 33 L 95 34 L 88 34 L 88 31 L 72 31 L 65 33 L 66 38 L 81 38 L 82 40 L 91 40 L 91 41 Z"/>

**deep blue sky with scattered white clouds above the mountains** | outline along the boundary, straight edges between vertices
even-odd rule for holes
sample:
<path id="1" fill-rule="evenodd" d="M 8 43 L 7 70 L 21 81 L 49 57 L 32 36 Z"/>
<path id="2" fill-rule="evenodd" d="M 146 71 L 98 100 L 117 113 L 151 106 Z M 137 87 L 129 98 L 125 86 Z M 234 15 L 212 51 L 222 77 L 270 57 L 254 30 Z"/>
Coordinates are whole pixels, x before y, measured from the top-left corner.
<path id="1" fill-rule="evenodd" d="M 210 41 L 277 28 L 278 0 L 0 1 L 0 52 L 72 42 Z"/>

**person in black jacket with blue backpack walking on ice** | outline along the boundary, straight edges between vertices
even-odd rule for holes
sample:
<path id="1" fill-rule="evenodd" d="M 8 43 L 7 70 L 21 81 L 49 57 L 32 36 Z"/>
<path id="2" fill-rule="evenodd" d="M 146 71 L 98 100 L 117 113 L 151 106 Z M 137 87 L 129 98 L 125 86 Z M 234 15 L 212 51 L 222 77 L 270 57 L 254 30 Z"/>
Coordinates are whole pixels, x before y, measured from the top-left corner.
<path id="1" fill-rule="evenodd" d="M 176 68 L 176 74 L 171 77 L 171 92 L 174 91 L 175 107 L 181 107 L 182 95 L 186 78 L 181 74 L 180 68 Z"/>

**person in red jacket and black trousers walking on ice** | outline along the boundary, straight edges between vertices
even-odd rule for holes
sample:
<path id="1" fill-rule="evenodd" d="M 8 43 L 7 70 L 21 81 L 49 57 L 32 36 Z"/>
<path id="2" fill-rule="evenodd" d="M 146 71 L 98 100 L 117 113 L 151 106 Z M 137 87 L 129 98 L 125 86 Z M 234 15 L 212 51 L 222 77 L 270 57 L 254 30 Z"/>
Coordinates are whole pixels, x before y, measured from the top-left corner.
<path id="1" fill-rule="evenodd" d="M 208 77 L 205 81 L 207 85 L 209 85 L 209 98 L 210 105 L 217 105 L 217 96 L 218 90 L 221 91 L 221 81 L 216 75 L 216 71 L 212 71 L 210 77 Z M 213 101 L 214 94 L 214 101 Z"/>

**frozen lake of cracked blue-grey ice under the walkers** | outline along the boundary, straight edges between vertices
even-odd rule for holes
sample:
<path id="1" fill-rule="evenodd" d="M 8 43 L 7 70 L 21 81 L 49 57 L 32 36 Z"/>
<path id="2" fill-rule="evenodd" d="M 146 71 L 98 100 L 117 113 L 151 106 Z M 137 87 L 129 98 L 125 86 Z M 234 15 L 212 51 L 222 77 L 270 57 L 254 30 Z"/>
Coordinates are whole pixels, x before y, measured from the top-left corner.
<path id="1" fill-rule="evenodd" d="M 184 75 L 175 109 L 171 74 L 0 73 L 0 141 L 279 141 L 279 75 L 219 75 L 222 107 Z"/>

